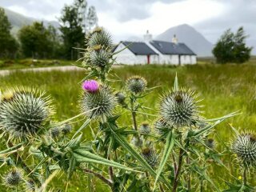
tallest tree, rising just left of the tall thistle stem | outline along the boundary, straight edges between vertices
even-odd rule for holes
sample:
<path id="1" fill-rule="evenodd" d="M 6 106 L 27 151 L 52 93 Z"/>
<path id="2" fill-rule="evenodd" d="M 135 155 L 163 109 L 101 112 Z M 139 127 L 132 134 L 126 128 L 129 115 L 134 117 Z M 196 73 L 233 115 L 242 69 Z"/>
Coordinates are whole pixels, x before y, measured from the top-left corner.
<path id="1" fill-rule="evenodd" d="M 87 14 L 87 7 L 86 0 L 74 0 L 73 5 L 66 5 L 62 10 L 59 22 L 61 23 L 64 54 L 67 59 L 79 58 L 80 51 L 75 50 L 74 47 L 84 46 L 86 31 L 98 22 L 95 8 L 90 7 Z"/>

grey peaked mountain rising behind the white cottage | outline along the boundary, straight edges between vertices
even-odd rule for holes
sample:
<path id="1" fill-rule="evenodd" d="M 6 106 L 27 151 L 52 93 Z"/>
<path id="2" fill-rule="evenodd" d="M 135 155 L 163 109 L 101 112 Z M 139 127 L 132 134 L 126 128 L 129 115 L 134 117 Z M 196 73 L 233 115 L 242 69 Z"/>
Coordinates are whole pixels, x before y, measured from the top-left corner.
<path id="1" fill-rule="evenodd" d="M 178 38 L 178 42 L 184 42 L 198 57 L 212 56 L 213 44 L 187 24 L 171 27 L 162 34 L 159 34 L 155 39 L 170 42 L 174 34 Z"/>

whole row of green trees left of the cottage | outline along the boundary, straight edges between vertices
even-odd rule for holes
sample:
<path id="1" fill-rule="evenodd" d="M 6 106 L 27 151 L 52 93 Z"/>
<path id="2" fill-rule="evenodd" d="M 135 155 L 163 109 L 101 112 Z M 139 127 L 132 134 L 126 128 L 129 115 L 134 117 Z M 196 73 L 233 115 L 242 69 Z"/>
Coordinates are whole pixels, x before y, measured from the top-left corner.
<path id="1" fill-rule="evenodd" d="M 1 8 L 0 58 L 77 59 L 80 51 L 74 47 L 84 47 L 86 32 L 97 22 L 94 6 L 88 6 L 86 0 L 74 0 L 72 5 L 62 9 L 58 29 L 34 22 L 23 26 L 16 39 L 10 34 L 11 24 Z"/>

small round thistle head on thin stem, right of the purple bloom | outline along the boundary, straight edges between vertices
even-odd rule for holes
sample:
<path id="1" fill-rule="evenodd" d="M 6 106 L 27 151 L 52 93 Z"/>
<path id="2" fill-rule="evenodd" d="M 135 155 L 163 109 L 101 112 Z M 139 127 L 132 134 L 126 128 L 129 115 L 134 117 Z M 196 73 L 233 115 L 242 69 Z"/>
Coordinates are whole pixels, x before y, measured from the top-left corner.
<path id="1" fill-rule="evenodd" d="M 140 94 L 146 89 L 146 79 L 138 75 L 132 76 L 126 80 L 126 87 L 134 94 Z"/>

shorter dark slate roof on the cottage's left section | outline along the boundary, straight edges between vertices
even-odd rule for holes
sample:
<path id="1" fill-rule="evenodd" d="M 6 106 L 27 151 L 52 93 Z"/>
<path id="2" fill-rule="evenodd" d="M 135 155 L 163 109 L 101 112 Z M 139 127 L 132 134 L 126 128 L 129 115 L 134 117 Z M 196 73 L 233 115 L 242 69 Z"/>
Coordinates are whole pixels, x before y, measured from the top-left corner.
<path id="1" fill-rule="evenodd" d="M 124 46 L 136 55 L 157 54 L 145 42 L 122 42 Z"/>

